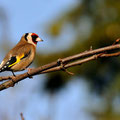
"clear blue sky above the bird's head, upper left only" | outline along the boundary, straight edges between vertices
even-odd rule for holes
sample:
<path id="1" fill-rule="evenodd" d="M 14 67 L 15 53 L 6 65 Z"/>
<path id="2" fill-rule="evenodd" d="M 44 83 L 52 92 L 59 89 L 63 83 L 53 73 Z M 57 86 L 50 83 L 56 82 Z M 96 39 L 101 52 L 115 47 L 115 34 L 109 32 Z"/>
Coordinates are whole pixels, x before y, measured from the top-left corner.
<path id="1" fill-rule="evenodd" d="M 58 19 L 64 11 L 74 8 L 76 5 L 77 0 L 0 1 L 0 6 L 5 8 L 9 19 L 10 40 L 17 43 L 24 33 L 35 32 L 38 33 L 42 39 L 45 39 L 44 45 L 41 46 L 44 51 L 44 47 L 49 49 L 51 43 L 48 40 L 50 37 L 45 33 L 46 26 L 52 23 L 54 19 Z M 70 39 L 66 40 L 70 41 Z M 63 44 L 63 42 L 60 41 L 59 44 L 54 43 L 54 46 L 59 50 L 60 45 L 64 47 L 65 44 Z"/>

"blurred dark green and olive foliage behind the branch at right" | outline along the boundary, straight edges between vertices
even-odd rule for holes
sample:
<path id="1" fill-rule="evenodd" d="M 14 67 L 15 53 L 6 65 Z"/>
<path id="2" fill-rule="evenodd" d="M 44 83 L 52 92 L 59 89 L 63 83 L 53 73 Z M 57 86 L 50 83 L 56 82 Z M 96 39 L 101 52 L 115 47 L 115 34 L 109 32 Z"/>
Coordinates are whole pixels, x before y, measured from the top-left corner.
<path id="1" fill-rule="evenodd" d="M 89 50 L 91 45 L 93 49 L 111 45 L 120 37 L 120 1 L 83 0 L 75 8 L 63 13 L 59 19 L 53 21 L 46 31 L 52 37 L 59 37 L 66 25 L 72 26 L 75 31 L 73 45 L 63 52 L 38 54 L 37 65 Z M 120 119 L 120 115 L 112 109 L 113 100 L 119 96 L 120 92 L 119 59 L 119 57 L 99 59 L 70 69 L 76 76 L 84 76 L 91 84 L 91 90 L 106 99 L 106 111 L 102 114 L 93 113 L 97 120 Z M 44 88 L 50 93 L 62 88 L 71 77 L 64 72 L 47 75 Z"/>

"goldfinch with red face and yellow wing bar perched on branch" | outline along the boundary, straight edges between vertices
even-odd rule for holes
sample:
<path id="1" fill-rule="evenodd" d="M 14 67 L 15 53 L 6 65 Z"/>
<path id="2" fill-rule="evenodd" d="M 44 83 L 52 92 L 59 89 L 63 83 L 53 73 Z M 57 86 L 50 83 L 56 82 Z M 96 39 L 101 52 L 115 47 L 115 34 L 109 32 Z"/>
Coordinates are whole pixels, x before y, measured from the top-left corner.
<path id="1" fill-rule="evenodd" d="M 36 53 L 37 42 L 43 41 L 36 33 L 25 33 L 20 41 L 4 57 L 0 64 L 0 72 L 23 71 L 33 62 Z"/>

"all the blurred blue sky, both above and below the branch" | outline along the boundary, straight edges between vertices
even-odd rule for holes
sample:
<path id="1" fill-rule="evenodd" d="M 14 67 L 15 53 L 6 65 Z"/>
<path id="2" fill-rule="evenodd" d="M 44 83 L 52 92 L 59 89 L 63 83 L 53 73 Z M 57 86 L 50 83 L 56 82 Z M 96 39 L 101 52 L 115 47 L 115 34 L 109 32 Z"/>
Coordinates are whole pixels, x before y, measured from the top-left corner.
<path id="1" fill-rule="evenodd" d="M 0 0 L 0 7 L 3 7 L 7 13 L 10 40 L 13 45 L 24 33 L 35 32 L 45 39 L 44 45 L 42 44 L 40 47 L 43 50 L 47 48 L 49 51 L 48 46 L 51 42 L 48 40 L 50 37 L 45 33 L 46 25 L 59 18 L 64 11 L 75 7 L 77 2 L 78 0 Z M 63 36 L 64 38 L 69 37 L 65 34 Z M 70 39 L 60 41 L 52 47 L 61 48 L 61 44 L 64 47 L 65 42 L 68 44 Z M 20 113 L 23 112 L 26 120 L 48 120 L 50 116 L 50 120 L 94 120 L 86 112 L 86 108 L 91 107 L 89 102 L 92 101 L 92 97 L 89 96 L 88 84 L 83 82 L 83 79 L 81 82 L 78 82 L 77 79 L 71 81 L 51 101 L 51 97 L 42 91 L 44 77 L 41 75 L 41 80 L 39 77 L 34 77 L 35 80 L 27 79 L 18 83 L 14 88 L 2 91 L 0 118 L 8 116 L 9 120 L 17 120 L 20 119 Z M 40 85 L 39 91 L 37 88 Z M 78 103 L 80 103 L 79 107 Z"/>

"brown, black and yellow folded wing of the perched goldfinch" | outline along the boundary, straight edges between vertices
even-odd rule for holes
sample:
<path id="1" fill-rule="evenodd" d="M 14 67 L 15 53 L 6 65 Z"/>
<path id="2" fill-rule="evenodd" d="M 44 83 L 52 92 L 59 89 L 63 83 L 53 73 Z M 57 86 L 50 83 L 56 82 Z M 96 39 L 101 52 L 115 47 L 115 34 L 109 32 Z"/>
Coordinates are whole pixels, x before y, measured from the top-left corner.
<path id="1" fill-rule="evenodd" d="M 0 72 L 9 70 L 12 66 L 27 58 L 31 53 L 31 45 L 21 45 L 13 48 L 3 59 Z"/>

